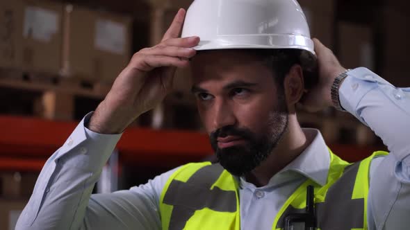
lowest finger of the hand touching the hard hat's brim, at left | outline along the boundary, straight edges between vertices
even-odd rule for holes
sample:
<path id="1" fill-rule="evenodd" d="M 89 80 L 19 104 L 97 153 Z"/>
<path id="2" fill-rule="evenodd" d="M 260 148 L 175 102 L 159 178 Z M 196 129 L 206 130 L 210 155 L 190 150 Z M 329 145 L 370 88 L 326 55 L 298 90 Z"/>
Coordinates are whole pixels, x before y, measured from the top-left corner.
<path id="1" fill-rule="evenodd" d="M 179 57 L 168 57 L 163 55 L 145 55 L 139 62 L 132 67 L 140 71 L 151 71 L 158 67 L 186 67 L 189 61 Z"/>

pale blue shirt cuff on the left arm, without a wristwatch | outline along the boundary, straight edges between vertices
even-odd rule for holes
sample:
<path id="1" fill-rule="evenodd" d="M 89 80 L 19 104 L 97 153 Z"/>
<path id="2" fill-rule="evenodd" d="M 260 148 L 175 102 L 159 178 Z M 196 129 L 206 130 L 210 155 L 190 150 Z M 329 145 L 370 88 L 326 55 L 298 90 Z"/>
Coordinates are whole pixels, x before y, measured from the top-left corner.
<path id="1" fill-rule="evenodd" d="M 58 151 L 56 163 L 95 172 L 101 170 L 122 134 L 99 134 L 84 126 L 93 112 L 87 114 Z"/>

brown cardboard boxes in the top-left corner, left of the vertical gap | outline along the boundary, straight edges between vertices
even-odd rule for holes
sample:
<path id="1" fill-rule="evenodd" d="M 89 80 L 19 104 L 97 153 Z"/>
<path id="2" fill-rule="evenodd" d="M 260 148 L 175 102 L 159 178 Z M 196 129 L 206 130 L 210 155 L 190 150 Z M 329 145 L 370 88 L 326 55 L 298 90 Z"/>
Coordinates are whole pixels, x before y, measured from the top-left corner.
<path id="1" fill-rule="evenodd" d="M 63 8 L 48 1 L 0 3 L 0 67 L 57 75 Z"/>

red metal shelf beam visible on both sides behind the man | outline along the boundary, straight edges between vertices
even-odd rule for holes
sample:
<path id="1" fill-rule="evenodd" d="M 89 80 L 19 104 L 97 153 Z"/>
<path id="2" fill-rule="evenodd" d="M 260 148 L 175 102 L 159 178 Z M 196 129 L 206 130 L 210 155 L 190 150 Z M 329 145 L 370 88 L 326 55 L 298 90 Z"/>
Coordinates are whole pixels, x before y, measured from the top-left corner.
<path id="1" fill-rule="evenodd" d="M 76 125 L 76 122 L 0 116 L 0 170 L 39 171 L 46 159 L 63 145 Z M 124 163 L 161 166 L 200 161 L 213 152 L 206 134 L 138 127 L 127 130 L 117 148 Z M 356 145 L 330 145 L 330 148 L 351 162 L 379 150 Z"/>

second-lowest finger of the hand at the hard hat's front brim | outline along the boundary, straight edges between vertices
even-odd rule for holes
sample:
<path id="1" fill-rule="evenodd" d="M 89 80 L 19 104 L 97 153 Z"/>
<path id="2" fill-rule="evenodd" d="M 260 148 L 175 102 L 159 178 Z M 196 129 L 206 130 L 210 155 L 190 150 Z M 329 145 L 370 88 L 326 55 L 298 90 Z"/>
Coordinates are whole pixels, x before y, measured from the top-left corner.
<path id="1" fill-rule="evenodd" d="M 140 51 L 143 55 L 163 55 L 170 57 L 191 58 L 195 56 L 197 51 L 193 48 L 182 48 L 177 46 L 154 46 L 144 51 Z"/>

